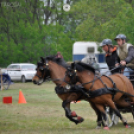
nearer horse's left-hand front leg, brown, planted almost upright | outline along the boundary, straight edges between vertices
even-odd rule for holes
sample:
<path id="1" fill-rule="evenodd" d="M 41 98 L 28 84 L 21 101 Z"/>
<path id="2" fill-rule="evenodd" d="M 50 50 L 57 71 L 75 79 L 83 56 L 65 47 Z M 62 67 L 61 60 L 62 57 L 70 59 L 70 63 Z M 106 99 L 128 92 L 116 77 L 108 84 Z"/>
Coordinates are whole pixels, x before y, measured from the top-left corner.
<path id="1" fill-rule="evenodd" d="M 101 118 L 103 120 L 104 129 L 109 130 L 109 128 L 108 128 L 108 120 L 107 120 L 107 116 L 106 116 L 104 106 L 100 105 L 100 104 L 96 104 L 96 108 L 99 110 L 99 112 L 101 113 L 101 116 L 103 117 L 103 118 L 102 117 Z"/>

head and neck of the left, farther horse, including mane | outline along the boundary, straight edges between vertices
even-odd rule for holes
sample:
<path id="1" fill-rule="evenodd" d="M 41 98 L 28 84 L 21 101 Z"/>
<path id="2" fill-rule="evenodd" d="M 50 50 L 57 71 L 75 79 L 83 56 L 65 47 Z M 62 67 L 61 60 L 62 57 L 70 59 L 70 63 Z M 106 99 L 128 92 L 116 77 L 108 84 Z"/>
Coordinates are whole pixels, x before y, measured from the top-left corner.
<path id="1" fill-rule="evenodd" d="M 33 83 L 40 85 L 51 78 L 54 83 L 61 86 L 65 86 L 66 83 L 74 84 L 73 81 L 70 81 L 71 73 L 66 72 L 67 68 L 68 65 L 61 58 L 55 58 L 54 56 L 41 57 L 41 61 L 37 63 L 37 72 L 33 77 Z"/>

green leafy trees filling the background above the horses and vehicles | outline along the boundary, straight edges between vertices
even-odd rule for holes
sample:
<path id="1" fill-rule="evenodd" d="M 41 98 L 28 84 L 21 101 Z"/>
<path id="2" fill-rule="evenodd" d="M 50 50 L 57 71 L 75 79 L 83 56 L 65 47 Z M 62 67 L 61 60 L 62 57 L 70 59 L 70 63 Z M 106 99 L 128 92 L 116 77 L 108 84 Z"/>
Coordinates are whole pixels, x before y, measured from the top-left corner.
<path id="1" fill-rule="evenodd" d="M 69 12 L 63 10 L 65 3 L 71 5 Z M 0 66 L 36 63 L 57 51 L 69 61 L 75 41 L 101 42 L 119 33 L 134 44 L 133 24 L 133 0 L 3 0 Z"/>

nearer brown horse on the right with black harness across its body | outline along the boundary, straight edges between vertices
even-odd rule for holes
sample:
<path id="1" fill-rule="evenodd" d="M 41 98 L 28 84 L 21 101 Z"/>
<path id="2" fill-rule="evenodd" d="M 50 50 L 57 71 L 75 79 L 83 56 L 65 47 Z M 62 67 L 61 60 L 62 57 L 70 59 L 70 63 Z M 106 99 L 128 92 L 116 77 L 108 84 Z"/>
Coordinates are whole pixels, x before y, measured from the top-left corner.
<path id="1" fill-rule="evenodd" d="M 113 101 L 121 107 L 132 106 L 132 103 L 134 103 L 134 89 L 129 79 L 122 74 L 96 77 L 94 68 L 82 62 L 72 63 L 71 69 L 71 73 L 75 73 L 76 81 L 84 86 L 89 95 L 93 95 L 93 92 L 98 94 L 94 98 L 91 96 L 90 101 L 101 111 L 105 126 L 107 127 L 105 106 L 109 106 L 120 117 L 126 128 L 128 128 L 126 119 L 122 117 Z M 126 95 L 132 103 L 125 101 L 124 96 Z"/>

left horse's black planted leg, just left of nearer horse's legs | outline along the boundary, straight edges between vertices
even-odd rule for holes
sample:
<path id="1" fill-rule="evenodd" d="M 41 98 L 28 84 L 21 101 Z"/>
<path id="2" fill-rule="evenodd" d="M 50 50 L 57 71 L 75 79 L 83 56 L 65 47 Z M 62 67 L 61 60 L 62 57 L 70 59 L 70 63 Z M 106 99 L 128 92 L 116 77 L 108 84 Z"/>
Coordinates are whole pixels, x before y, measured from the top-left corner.
<path id="1" fill-rule="evenodd" d="M 96 108 L 95 104 L 93 104 L 92 102 L 90 102 L 90 105 L 94 109 L 94 111 L 95 111 L 95 113 L 97 115 L 97 127 L 96 127 L 96 129 L 100 129 L 101 125 L 104 126 L 102 116 L 101 116 L 101 112 Z"/>

